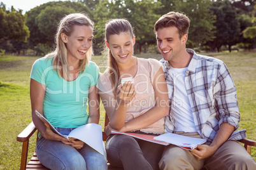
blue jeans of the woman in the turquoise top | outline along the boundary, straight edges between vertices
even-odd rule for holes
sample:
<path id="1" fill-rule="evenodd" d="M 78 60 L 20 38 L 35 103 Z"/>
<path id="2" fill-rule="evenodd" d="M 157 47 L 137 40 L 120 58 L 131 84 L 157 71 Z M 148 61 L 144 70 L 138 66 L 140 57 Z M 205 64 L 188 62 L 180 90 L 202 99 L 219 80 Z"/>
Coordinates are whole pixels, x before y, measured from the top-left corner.
<path id="1" fill-rule="evenodd" d="M 72 128 L 55 128 L 61 134 L 69 134 Z M 76 148 L 66 145 L 61 141 L 46 140 L 41 136 L 36 143 L 38 159 L 49 169 L 108 169 L 106 153 L 99 154 L 89 145 Z"/>

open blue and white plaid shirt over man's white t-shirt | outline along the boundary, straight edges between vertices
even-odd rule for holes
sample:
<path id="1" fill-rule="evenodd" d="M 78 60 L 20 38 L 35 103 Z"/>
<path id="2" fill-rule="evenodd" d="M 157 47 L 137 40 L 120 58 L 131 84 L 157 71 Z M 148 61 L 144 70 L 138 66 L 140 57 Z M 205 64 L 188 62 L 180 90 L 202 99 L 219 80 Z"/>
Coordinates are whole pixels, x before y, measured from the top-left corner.
<path id="1" fill-rule="evenodd" d="M 212 142 L 220 129 L 220 124 L 227 122 L 238 129 L 240 114 L 236 87 L 224 62 L 210 56 L 197 55 L 187 49 L 192 60 L 185 74 L 185 86 L 197 132 L 202 138 Z M 171 77 L 169 62 L 160 60 L 169 92 L 169 115 L 165 117 L 166 133 L 174 133 L 174 119 L 171 105 L 174 93 L 174 80 Z M 246 130 L 235 131 L 229 140 L 241 140 L 246 137 Z"/>

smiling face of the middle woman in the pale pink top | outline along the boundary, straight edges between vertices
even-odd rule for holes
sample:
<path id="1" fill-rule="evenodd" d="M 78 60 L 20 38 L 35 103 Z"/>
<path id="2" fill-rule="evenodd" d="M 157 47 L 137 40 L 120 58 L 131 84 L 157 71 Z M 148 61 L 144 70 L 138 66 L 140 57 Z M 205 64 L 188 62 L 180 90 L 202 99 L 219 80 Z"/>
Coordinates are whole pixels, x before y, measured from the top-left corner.
<path id="1" fill-rule="evenodd" d="M 120 34 L 113 34 L 110 36 L 106 45 L 111 50 L 111 54 L 118 64 L 127 63 L 131 61 L 133 54 L 133 46 L 135 44 L 135 37 L 127 32 Z"/>

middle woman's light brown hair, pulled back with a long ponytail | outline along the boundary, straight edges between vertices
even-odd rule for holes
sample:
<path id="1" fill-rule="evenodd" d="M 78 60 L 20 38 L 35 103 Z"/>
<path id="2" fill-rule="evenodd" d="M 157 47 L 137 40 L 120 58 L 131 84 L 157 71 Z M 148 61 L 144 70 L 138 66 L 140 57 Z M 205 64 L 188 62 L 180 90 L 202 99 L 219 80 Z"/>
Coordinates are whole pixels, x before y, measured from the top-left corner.
<path id="1" fill-rule="evenodd" d="M 111 19 L 105 25 L 105 41 L 110 42 L 111 35 L 119 35 L 122 32 L 129 33 L 134 37 L 134 32 L 131 23 L 125 19 Z M 107 48 L 107 47 L 106 47 Z M 118 70 L 117 61 L 113 57 L 111 50 L 108 49 L 108 74 L 110 74 L 110 81 L 114 89 L 114 96 L 117 95 L 117 82 L 119 81 L 120 72 Z"/>

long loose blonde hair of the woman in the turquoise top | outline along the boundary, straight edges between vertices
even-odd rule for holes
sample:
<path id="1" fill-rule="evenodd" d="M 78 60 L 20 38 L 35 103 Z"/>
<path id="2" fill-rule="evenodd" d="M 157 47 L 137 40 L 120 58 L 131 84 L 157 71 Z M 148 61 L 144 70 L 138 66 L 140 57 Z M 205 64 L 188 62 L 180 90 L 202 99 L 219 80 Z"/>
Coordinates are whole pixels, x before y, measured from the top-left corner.
<path id="1" fill-rule="evenodd" d="M 55 51 L 46 55 L 46 58 L 53 58 L 52 65 L 53 69 L 57 70 L 60 77 L 64 79 L 69 78 L 69 65 L 67 59 L 67 48 L 65 43 L 61 39 L 61 33 L 70 36 L 74 30 L 75 25 L 85 25 L 92 27 L 94 29 L 94 22 L 85 13 L 72 13 L 66 15 L 62 20 L 60 20 L 57 34 L 55 36 L 56 48 Z M 91 56 L 93 55 L 92 47 L 90 47 L 86 53 L 86 56 L 83 60 L 80 61 L 80 72 L 85 70 L 85 66 L 89 63 Z"/>

